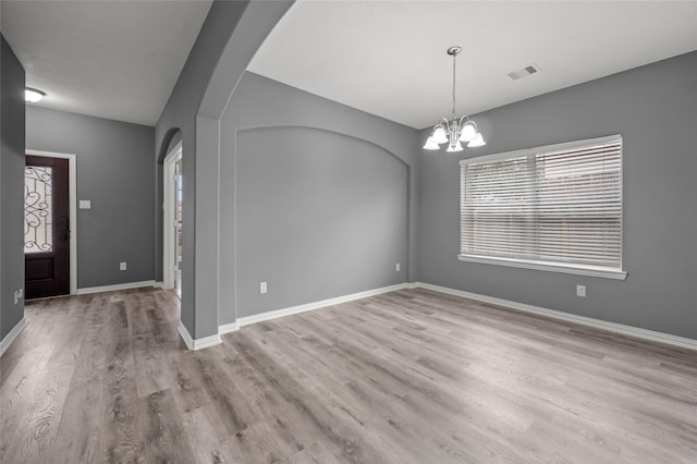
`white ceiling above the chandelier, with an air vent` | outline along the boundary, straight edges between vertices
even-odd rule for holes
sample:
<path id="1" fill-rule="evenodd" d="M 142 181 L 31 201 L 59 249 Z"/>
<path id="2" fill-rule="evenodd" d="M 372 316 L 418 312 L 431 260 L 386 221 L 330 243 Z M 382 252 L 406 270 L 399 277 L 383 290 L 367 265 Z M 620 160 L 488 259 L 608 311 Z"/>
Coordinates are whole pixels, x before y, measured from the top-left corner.
<path id="1" fill-rule="evenodd" d="M 416 129 L 697 49 L 697 2 L 298 1 L 249 70 Z M 518 81 L 508 73 L 538 64 Z"/>

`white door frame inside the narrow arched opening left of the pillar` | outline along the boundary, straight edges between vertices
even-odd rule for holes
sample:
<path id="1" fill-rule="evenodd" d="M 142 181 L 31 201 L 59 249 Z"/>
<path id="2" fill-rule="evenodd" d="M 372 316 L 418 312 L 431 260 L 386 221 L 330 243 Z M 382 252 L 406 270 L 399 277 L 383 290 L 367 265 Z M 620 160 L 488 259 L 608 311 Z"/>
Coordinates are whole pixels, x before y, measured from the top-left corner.
<path id="1" fill-rule="evenodd" d="M 174 206 L 176 193 L 172 188 L 174 179 L 174 164 L 183 156 L 182 142 L 180 141 L 170 150 L 162 162 L 162 288 L 174 288 L 174 254 L 176 252 L 176 229 L 174 223 Z"/>

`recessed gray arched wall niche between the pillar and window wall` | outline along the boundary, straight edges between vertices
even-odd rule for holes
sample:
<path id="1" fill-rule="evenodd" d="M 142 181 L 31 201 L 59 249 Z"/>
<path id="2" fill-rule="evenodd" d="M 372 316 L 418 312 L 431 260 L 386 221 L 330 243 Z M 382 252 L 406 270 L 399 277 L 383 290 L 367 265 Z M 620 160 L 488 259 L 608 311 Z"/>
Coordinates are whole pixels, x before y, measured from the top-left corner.
<path id="1" fill-rule="evenodd" d="M 241 131 L 237 317 L 404 282 L 407 188 L 406 164 L 367 142 L 306 127 Z"/>

